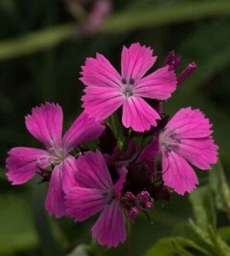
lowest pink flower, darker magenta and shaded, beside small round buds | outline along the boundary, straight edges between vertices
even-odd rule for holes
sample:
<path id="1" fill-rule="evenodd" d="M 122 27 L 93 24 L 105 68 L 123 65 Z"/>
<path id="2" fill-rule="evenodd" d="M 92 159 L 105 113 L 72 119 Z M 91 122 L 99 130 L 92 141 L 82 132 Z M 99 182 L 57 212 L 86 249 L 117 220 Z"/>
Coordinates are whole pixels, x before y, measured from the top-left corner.
<path id="1" fill-rule="evenodd" d="M 124 211 L 119 202 L 125 171 L 120 172 L 118 182 L 113 184 L 106 160 L 99 151 L 80 156 L 77 165 L 78 186 L 66 195 L 66 212 L 82 222 L 102 211 L 92 228 L 92 236 L 101 245 L 117 247 L 126 240 Z"/>

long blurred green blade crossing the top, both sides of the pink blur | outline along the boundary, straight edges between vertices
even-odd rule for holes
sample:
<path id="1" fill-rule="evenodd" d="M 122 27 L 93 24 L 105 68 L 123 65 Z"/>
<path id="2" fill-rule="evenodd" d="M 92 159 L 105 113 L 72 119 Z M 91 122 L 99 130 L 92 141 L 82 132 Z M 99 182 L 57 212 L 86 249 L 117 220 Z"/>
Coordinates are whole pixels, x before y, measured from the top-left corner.
<path id="1" fill-rule="evenodd" d="M 162 26 L 185 20 L 198 20 L 230 14 L 229 1 L 202 1 L 178 3 L 158 8 L 152 6 L 140 12 L 139 9 L 111 15 L 101 27 L 102 33 L 127 32 L 147 26 Z M 0 43 L 0 61 L 30 55 L 62 44 L 76 34 L 75 24 L 65 24 L 30 32 L 20 38 L 12 38 Z"/>

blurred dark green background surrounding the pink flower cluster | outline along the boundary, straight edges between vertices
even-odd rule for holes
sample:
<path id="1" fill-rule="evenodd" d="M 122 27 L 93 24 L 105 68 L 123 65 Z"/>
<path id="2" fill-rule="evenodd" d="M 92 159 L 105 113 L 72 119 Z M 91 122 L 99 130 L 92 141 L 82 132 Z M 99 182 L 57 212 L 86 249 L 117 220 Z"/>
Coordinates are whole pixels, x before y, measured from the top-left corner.
<path id="1" fill-rule="evenodd" d="M 96 16 L 103 20 L 98 27 L 95 2 L 0 0 L 0 255 L 59 256 L 74 247 L 78 251 L 72 256 L 88 255 L 84 250 L 88 247 L 78 247 L 81 244 L 90 244 L 89 255 L 145 255 L 158 239 L 172 236 L 193 217 L 187 196 L 173 196 L 170 203 L 156 204 L 153 224 L 140 216 L 128 242 L 107 251 L 90 241 L 94 219 L 73 224 L 67 218 L 48 217 L 43 207 L 46 185 L 38 186 L 35 180 L 14 187 L 6 180 L 4 162 L 9 148 L 39 145 L 24 124 L 33 106 L 59 102 L 65 125 L 81 111 L 80 67 L 95 52 L 106 55 L 118 69 L 122 46 L 133 42 L 154 48 L 156 67 L 171 49 L 182 55 L 181 69 L 195 61 L 196 73 L 164 104 L 164 111 L 201 108 L 214 124 L 224 169 L 230 167 L 230 1 L 104 1 L 106 19 Z M 201 186 L 209 182 L 207 172 L 199 176 Z M 227 226 L 227 217 L 218 214 L 218 225 Z M 167 254 L 164 249 L 163 243 L 158 253 L 147 255 L 189 255 Z"/>

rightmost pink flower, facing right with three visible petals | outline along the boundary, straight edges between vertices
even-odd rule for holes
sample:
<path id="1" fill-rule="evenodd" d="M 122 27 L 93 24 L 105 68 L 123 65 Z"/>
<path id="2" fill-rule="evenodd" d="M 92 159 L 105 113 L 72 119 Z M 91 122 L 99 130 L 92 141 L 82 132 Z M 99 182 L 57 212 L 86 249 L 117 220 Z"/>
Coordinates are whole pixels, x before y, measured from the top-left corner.
<path id="1" fill-rule="evenodd" d="M 198 184 L 198 177 L 188 162 L 208 170 L 217 161 L 218 147 L 210 128 L 209 119 L 200 110 L 182 108 L 160 133 L 164 185 L 179 195 L 192 192 Z"/>

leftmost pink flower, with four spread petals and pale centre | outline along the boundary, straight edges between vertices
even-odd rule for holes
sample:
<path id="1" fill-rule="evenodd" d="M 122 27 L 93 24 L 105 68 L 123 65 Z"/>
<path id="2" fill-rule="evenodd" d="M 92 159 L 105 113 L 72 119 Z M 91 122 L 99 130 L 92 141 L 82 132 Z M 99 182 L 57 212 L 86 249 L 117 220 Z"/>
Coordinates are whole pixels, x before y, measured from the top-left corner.
<path id="1" fill-rule="evenodd" d="M 37 173 L 50 177 L 46 208 L 56 218 L 65 215 L 64 195 L 75 185 L 76 160 L 69 152 L 80 143 L 100 136 L 104 129 L 82 113 L 62 137 L 62 122 L 63 113 L 58 104 L 46 102 L 33 108 L 32 115 L 26 116 L 26 128 L 46 150 L 12 148 L 6 160 L 7 177 L 13 184 L 26 183 Z M 43 170 L 48 166 L 54 166 L 54 170 Z"/>

